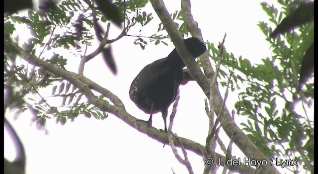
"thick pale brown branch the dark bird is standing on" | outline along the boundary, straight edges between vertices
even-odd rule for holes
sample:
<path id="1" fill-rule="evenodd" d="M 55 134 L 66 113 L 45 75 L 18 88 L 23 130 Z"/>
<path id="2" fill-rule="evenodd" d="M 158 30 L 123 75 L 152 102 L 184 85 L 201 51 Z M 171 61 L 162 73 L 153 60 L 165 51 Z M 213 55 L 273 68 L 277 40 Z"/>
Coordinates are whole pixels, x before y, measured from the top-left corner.
<path id="1" fill-rule="evenodd" d="M 39 68 L 43 68 L 46 71 L 61 77 L 70 83 L 72 83 L 74 86 L 78 87 L 81 93 L 84 93 L 88 102 L 95 105 L 96 107 L 100 108 L 100 110 L 109 112 L 114 114 L 119 119 L 123 120 L 125 123 L 133 127 L 134 129 L 138 130 L 141 133 L 144 133 L 151 137 L 152 139 L 155 139 L 163 144 L 168 144 L 168 134 L 162 131 L 159 131 L 158 129 L 154 127 L 149 127 L 147 123 L 145 122 L 137 122 L 137 118 L 129 114 L 124 107 L 123 102 L 111 91 L 99 86 L 98 84 L 92 82 L 91 80 L 87 79 L 83 75 L 79 75 L 73 72 L 68 72 L 63 69 L 61 69 L 58 66 L 54 66 L 50 63 L 47 63 L 39 58 L 37 58 L 34 55 L 31 55 L 29 52 L 24 51 L 20 46 L 18 46 L 16 43 L 13 43 L 11 40 L 8 40 L 8 44 L 10 44 L 12 47 L 14 47 L 14 50 L 22 59 L 27 61 L 28 63 L 37 66 Z M 91 89 L 101 93 L 103 96 L 109 98 L 113 104 L 110 104 L 107 101 L 100 100 L 96 95 L 93 94 Z M 194 152 L 195 154 L 199 156 L 206 156 L 207 152 L 204 146 L 202 146 L 199 143 L 196 143 L 192 140 L 179 137 L 180 142 L 182 142 L 182 145 L 184 149 L 189 150 L 191 152 Z M 181 144 L 176 141 L 175 137 L 173 137 L 173 142 L 176 147 L 181 147 Z M 218 153 L 212 153 L 212 155 L 216 159 L 221 159 L 222 161 L 226 161 L 225 157 L 218 154 Z M 255 170 L 249 166 L 227 166 L 225 164 L 225 168 L 233 171 L 238 172 L 242 174 L 254 174 Z M 259 174 L 256 172 L 256 174 Z"/>

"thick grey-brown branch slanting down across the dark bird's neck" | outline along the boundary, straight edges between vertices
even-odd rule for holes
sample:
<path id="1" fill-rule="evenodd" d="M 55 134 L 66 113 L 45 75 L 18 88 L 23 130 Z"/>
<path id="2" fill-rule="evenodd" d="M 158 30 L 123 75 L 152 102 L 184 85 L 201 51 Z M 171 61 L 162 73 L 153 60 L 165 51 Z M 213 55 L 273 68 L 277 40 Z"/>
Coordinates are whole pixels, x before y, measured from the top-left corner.
<path id="1" fill-rule="evenodd" d="M 159 16 L 165 30 L 171 37 L 171 40 L 179 53 L 182 61 L 187 66 L 193 77 L 197 80 L 197 83 L 202 88 L 206 96 L 210 97 L 210 82 L 203 75 L 198 65 L 191 60 L 191 54 L 187 50 L 183 38 L 181 37 L 177 27 L 175 26 L 173 20 L 171 19 L 169 12 L 165 8 L 165 5 L 162 0 L 150 0 L 152 6 L 154 7 L 157 15 Z M 222 123 L 222 127 L 224 131 L 227 133 L 229 137 L 233 137 L 233 141 L 239 147 L 239 149 L 244 153 L 244 155 L 253 160 L 266 160 L 267 164 L 270 164 L 270 161 L 267 157 L 258 150 L 258 148 L 250 141 L 250 139 L 239 129 L 235 122 L 232 121 L 230 112 L 226 106 L 224 109 L 222 108 L 223 99 L 219 88 L 215 87 L 216 95 L 215 97 L 215 112 L 219 115 L 218 117 L 224 117 L 224 122 Z M 272 166 L 262 166 L 259 171 L 264 174 L 276 174 L 279 173 L 276 168 Z"/>

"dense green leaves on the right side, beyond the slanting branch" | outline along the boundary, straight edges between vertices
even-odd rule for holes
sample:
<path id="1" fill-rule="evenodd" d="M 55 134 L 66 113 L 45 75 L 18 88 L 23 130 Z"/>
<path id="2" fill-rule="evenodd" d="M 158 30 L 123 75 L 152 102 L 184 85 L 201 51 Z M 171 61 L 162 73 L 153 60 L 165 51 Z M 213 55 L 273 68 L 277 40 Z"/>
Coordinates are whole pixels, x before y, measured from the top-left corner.
<path id="1" fill-rule="evenodd" d="M 290 1 L 280 1 L 283 9 L 290 9 Z M 261 3 L 269 21 L 277 25 L 288 10 L 281 11 L 273 5 Z M 300 67 L 303 56 L 314 42 L 314 23 L 269 39 L 273 29 L 267 22 L 258 24 L 271 44 L 272 57 L 262 59 L 262 64 L 251 65 L 241 56 L 236 58 L 225 53 L 220 72 L 221 85 L 225 86 L 230 70 L 234 77 L 232 90 L 240 90 L 236 109 L 248 118 L 241 123 L 243 130 L 253 143 L 267 156 L 279 159 L 302 159 L 301 165 L 290 168 L 298 173 L 303 166 L 313 169 L 314 165 L 314 122 L 306 108 L 313 108 L 314 84 L 309 81 L 306 90 L 297 93 Z M 208 42 L 212 59 L 217 61 L 218 49 Z M 244 87 L 244 88 L 241 88 Z M 297 108 L 297 109 L 296 109 Z M 303 112 L 298 113 L 299 110 Z M 311 119 L 309 119 L 309 117 Z"/>

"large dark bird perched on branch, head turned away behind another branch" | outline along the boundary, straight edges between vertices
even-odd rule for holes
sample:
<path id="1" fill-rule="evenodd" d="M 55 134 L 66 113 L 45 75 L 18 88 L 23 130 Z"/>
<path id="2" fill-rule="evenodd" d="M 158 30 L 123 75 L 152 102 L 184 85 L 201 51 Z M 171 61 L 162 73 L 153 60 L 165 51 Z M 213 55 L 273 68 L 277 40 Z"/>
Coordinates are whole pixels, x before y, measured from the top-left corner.
<path id="1" fill-rule="evenodd" d="M 204 43 L 198 38 L 190 37 L 183 40 L 193 59 L 206 51 Z M 168 107 L 175 100 L 177 90 L 185 79 L 184 67 L 183 61 L 174 48 L 167 57 L 147 65 L 133 80 L 129 90 L 130 99 L 139 109 L 150 114 L 147 121 L 149 126 L 152 125 L 152 115 L 161 112 L 164 132 L 167 132 Z"/>

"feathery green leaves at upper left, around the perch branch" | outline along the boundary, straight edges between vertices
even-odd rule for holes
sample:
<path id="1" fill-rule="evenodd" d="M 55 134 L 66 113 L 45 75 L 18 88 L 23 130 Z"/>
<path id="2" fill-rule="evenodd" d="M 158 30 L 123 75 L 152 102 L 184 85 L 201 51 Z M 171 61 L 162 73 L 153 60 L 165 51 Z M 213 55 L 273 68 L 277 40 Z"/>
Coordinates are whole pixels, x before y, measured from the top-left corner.
<path id="1" fill-rule="evenodd" d="M 122 13 L 125 11 L 125 33 L 136 23 L 145 26 L 152 19 L 151 14 L 142 19 L 139 17 L 141 14 L 146 15 L 145 11 L 140 10 L 147 2 L 148 0 L 131 0 L 115 3 Z M 83 53 L 81 47 L 92 46 L 95 35 L 92 30 L 93 10 L 88 5 L 90 3 L 91 1 L 84 4 L 79 0 L 64 0 L 42 13 L 29 10 L 27 16 L 12 14 L 4 17 L 4 86 L 14 89 L 12 95 L 22 91 L 23 95 L 17 100 L 29 96 L 26 102 L 20 103 L 20 108 L 22 111 L 32 108 L 34 119 L 39 125 L 43 126 L 47 118 L 56 118 L 57 123 L 65 124 L 67 119 L 74 120 L 79 114 L 86 117 L 92 115 L 97 119 L 105 119 L 107 114 L 87 103 L 83 94 L 71 83 L 55 77 L 46 70 L 30 68 L 27 62 L 16 59 L 16 50 L 6 41 L 11 40 L 12 36 L 18 36 L 17 32 L 21 32 L 18 30 L 19 27 L 26 26 L 32 37 L 23 43 L 23 47 L 42 60 L 64 69 L 69 60 L 55 54 L 55 51 L 68 50 L 74 55 L 79 55 Z M 109 23 L 100 11 L 95 12 L 95 17 L 100 23 Z M 52 53 L 52 57 L 47 56 Z M 39 92 L 39 89 L 45 87 L 52 88 L 50 96 L 42 96 Z M 52 98 L 60 99 L 61 103 L 50 103 L 49 100 Z"/>

